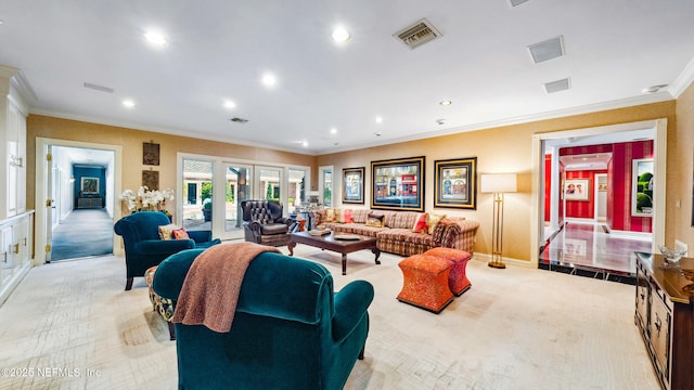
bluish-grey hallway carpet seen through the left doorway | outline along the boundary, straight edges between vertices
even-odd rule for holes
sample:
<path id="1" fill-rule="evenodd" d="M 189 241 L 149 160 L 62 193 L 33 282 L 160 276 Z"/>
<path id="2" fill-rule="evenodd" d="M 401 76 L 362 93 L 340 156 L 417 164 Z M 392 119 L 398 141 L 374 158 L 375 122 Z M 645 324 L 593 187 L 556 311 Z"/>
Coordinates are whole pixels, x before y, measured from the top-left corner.
<path id="1" fill-rule="evenodd" d="M 113 219 L 106 209 L 75 209 L 53 229 L 51 261 L 113 253 Z"/>

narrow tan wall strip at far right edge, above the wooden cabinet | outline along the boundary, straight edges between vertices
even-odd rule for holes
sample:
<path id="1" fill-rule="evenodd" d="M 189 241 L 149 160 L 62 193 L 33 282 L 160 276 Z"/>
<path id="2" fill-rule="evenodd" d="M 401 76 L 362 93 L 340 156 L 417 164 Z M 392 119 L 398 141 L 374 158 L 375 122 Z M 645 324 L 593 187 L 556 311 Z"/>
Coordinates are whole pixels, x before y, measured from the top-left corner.
<path id="1" fill-rule="evenodd" d="M 694 83 L 677 100 L 677 131 L 672 147 L 668 147 L 668 208 L 672 209 L 672 218 L 668 227 L 674 231 L 677 238 L 689 245 L 689 257 L 694 256 L 694 229 L 692 227 L 693 167 L 694 167 Z M 678 203 L 680 207 L 677 207 Z M 670 217 L 670 213 L 668 213 Z M 668 246 L 673 244 L 668 240 Z"/>

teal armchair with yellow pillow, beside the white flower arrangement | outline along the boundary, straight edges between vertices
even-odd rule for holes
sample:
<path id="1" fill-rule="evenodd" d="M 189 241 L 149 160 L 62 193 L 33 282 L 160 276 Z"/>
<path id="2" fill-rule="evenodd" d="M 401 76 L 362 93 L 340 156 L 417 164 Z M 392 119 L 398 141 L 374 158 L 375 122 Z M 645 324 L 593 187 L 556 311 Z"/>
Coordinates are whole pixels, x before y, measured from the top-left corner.
<path id="1" fill-rule="evenodd" d="M 159 226 L 169 224 L 169 218 L 159 211 L 134 212 L 119 219 L 114 231 L 123 236 L 126 251 L 126 290 L 132 287 L 133 277 L 143 277 L 144 272 L 172 253 L 183 249 L 207 248 L 221 243 L 213 239 L 211 231 L 189 231 L 190 239 L 164 240 Z"/>

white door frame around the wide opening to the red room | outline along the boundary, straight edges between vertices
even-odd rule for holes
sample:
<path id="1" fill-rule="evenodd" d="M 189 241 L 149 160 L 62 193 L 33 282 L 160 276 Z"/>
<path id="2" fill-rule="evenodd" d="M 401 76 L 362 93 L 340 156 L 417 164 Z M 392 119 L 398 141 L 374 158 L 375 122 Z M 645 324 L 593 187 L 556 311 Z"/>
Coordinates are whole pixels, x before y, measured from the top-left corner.
<path id="1" fill-rule="evenodd" d="M 654 129 L 655 138 L 654 146 L 654 198 L 659 199 L 655 203 L 653 216 L 653 248 L 658 243 L 665 242 L 665 204 L 666 204 L 666 177 L 667 177 L 667 130 L 668 120 L 666 118 L 644 120 L 638 122 L 602 126 L 594 128 L 586 128 L 578 130 L 556 131 L 532 135 L 532 193 L 530 205 L 530 266 L 538 268 L 540 240 L 543 237 L 544 221 L 542 220 L 540 208 L 542 207 L 543 193 L 540 191 L 543 186 L 542 168 L 544 167 L 544 154 L 542 151 L 542 142 L 547 140 L 568 139 L 574 136 L 587 136 L 609 134 L 622 131 Z"/>

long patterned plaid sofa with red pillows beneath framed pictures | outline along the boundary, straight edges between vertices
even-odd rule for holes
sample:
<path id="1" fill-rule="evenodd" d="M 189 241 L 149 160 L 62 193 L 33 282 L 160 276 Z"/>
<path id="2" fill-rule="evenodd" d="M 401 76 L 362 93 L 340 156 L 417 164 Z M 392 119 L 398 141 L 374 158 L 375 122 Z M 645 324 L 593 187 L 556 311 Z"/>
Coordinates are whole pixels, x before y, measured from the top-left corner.
<path id="1" fill-rule="evenodd" d="M 370 216 L 383 216 L 383 226 L 373 226 Z M 445 217 L 420 232 L 421 219 L 432 221 L 436 213 L 334 208 L 311 211 L 311 229 L 326 227 L 334 232 L 376 237 L 376 247 L 401 256 L 422 253 L 435 247 L 446 247 L 473 253 L 479 222 L 464 217 Z M 439 217 L 441 214 L 438 214 Z"/>

